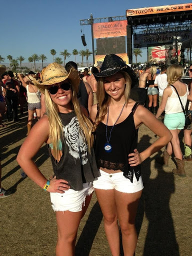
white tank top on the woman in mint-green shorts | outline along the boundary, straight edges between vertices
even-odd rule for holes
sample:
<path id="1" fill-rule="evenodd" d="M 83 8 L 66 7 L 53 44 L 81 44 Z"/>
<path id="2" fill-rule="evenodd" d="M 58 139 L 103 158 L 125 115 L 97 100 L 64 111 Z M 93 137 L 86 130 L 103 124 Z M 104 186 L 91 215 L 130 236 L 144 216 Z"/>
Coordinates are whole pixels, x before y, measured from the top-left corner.
<path id="1" fill-rule="evenodd" d="M 170 87 L 172 89 L 172 94 L 170 95 L 170 97 L 167 98 L 166 105 L 164 108 L 165 114 L 174 114 L 174 113 L 182 112 L 182 107 L 178 99 L 178 95 L 176 91 L 174 91 L 171 85 Z M 180 96 L 180 100 L 184 108 L 186 105 L 187 94 L 188 94 L 188 86 L 186 84 L 186 93 L 183 96 Z"/>

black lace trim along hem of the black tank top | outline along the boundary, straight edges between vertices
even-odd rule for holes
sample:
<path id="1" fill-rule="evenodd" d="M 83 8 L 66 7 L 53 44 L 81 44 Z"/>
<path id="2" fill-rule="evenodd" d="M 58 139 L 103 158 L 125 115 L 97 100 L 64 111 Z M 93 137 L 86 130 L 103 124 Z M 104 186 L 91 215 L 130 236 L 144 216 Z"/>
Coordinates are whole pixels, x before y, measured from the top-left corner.
<path id="1" fill-rule="evenodd" d="M 97 166 L 106 168 L 108 170 L 121 170 L 123 172 L 123 176 L 125 178 L 128 178 L 131 183 L 133 181 L 133 174 L 135 175 L 137 181 L 139 180 L 139 177 L 141 175 L 140 164 L 133 167 L 130 166 L 129 164 L 110 162 L 100 159 L 97 163 Z"/>

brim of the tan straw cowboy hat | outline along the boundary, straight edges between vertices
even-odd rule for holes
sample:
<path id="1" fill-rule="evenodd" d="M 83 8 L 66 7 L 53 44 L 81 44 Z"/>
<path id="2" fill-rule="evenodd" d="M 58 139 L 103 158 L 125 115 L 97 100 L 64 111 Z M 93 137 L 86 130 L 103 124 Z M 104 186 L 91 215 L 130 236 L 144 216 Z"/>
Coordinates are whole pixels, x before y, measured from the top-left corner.
<path id="1" fill-rule="evenodd" d="M 46 85 L 53 85 L 56 83 L 60 83 L 66 79 L 70 80 L 73 89 L 77 92 L 80 78 L 79 78 L 78 72 L 76 71 L 75 68 L 71 68 L 70 72 L 66 76 L 53 77 L 53 78 L 51 78 L 47 81 L 41 82 L 41 83 L 39 83 L 37 80 L 34 79 L 33 83 L 40 90 L 40 92 L 44 93 Z"/>

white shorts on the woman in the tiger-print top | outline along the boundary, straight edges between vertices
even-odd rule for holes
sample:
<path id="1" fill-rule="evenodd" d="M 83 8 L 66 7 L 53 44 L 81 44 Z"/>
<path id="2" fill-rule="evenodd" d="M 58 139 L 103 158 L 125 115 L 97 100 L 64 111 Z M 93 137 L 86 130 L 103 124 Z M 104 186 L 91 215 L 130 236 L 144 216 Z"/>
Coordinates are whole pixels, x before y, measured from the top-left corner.
<path id="1" fill-rule="evenodd" d="M 86 195 L 93 192 L 92 182 L 83 183 L 83 189 L 75 191 L 73 189 L 65 190 L 64 193 L 50 192 L 50 201 L 54 211 L 81 211 Z"/>

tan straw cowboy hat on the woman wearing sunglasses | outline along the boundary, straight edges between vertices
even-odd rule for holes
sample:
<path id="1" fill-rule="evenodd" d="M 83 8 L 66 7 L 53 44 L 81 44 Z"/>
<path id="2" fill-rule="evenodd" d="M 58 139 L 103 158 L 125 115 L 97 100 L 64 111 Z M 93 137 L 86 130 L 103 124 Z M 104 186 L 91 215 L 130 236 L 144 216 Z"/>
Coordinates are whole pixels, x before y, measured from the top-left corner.
<path id="1" fill-rule="evenodd" d="M 41 83 L 35 79 L 32 82 L 42 93 L 44 93 L 45 85 L 53 85 L 66 79 L 70 80 L 72 88 L 77 92 L 80 82 L 78 72 L 75 68 L 71 68 L 69 73 L 67 73 L 66 69 L 56 62 L 50 63 L 42 69 L 40 79 L 42 81 Z"/>

